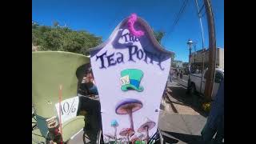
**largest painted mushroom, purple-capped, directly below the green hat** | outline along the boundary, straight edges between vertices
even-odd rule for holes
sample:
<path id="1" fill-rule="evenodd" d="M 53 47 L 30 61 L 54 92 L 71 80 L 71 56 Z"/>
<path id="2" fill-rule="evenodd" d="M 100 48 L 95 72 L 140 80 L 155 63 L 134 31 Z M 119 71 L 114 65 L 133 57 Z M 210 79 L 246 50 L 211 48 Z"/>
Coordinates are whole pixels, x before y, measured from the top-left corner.
<path id="1" fill-rule="evenodd" d="M 133 112 L 140 110 L 142 108 L 142 102 L 133 98 L 126 98 L 120 102 L 118 102 L 115 113 L 116 114 L 129 114 L 130 118 L 130 128 L 134 131 L 134 120 L 133 120 Z"/>

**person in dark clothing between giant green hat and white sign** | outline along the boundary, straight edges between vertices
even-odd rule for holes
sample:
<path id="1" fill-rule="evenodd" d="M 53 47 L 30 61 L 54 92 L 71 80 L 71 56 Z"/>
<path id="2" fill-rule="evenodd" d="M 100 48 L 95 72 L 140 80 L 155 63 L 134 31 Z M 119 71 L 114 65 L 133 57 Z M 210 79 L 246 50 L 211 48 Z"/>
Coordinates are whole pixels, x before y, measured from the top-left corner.
<path id="1" fill-rule="evenodd" d="M 81 76 L 78 89 L 79 97 L 79 112 L 78 114 L 85 115 L 84 131 L 90 138 L 91 143 L 96 143 L 98 131 L 102 129 L 102 116 L 100 102 L 95 98 L 98 95 L 96 82 L 90 66 L 85 66 L 83 76 Z M 83 70 L 83 69 L 82 69 Z"/>

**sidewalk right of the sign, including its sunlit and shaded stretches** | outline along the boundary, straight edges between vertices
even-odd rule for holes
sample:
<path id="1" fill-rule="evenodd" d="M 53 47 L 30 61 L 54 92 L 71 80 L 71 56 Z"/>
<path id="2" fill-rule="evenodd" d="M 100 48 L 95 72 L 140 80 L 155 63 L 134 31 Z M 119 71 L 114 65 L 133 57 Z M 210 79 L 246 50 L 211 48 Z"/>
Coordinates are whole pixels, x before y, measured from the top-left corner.
<path id="1" fill-rule="evenodd" d="M 185 86 L 175 81 L 167 86 L 158 121 L 166 143 L 200 143 L 206 116 L 192 108 L 193 98 L 186 95 Z"/>

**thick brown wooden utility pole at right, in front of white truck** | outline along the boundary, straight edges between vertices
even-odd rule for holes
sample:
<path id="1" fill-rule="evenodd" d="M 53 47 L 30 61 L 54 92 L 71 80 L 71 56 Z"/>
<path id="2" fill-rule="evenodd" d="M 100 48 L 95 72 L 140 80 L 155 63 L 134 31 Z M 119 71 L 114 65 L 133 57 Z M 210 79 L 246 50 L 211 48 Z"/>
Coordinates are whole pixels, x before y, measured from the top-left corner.
<path id="1" fill-rule="evenodd" d="M 206 75 L 206 87 L 205 96 L 206 102 L 211 101 L 211 95 L 214 87 L 214 74 L 215 74 L 215 63 L 216 63 L 216 39 L 215 39 L 215 29 L 214 29 L 214 15 L 211 9 L 210 0 L 204 0 L 204 5 L 206 8 L 206 16 L 208 23 L 208 33 L 209 33 L 209 67 L 208 74 Z"/>

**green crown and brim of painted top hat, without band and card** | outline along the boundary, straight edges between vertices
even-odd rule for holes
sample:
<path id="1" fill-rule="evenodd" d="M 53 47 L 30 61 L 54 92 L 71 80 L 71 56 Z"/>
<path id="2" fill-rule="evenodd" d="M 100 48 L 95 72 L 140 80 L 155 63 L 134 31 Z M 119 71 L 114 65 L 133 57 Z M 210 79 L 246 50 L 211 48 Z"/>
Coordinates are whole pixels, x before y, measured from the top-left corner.
<path id="1" fill-rule="evenodd" d="M 124 77 L 126 75 L 129 75 L 130 79 L 136 80 L 138 82 L 141 82 L 142 80 L 142 76 L 143 76 L 143 72 L 142 70 L 138 70 L 138 69 L 126 69 L 126 70 L 122 70 L 121 71 L 121 77 Z M 124 86 L 121 87 L 121 90 L 123 91 L 127 91 L 128 88 L 131 88 L 133 90 L 137 90 L 137 91 L 142 91 L 144 90 L 144 88 L 142 86 L 134 86 L 132 84 L 126 84 Z"/>

